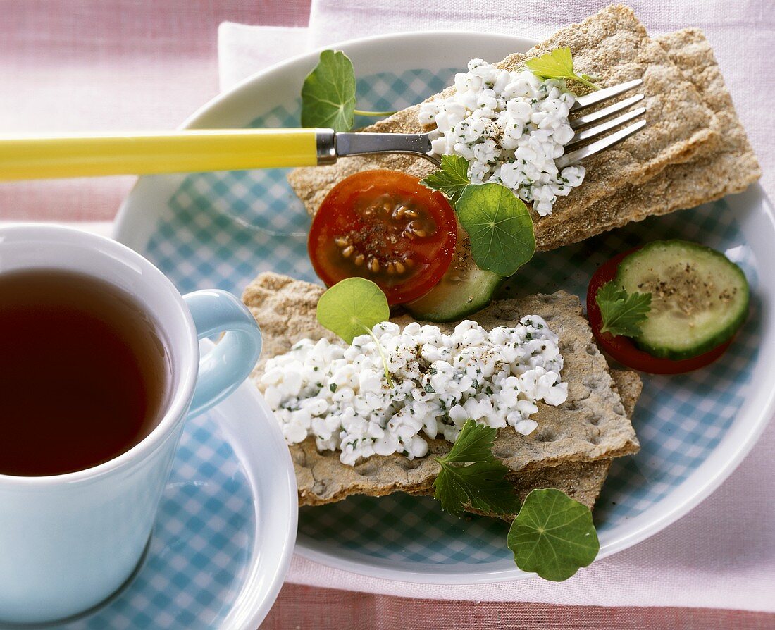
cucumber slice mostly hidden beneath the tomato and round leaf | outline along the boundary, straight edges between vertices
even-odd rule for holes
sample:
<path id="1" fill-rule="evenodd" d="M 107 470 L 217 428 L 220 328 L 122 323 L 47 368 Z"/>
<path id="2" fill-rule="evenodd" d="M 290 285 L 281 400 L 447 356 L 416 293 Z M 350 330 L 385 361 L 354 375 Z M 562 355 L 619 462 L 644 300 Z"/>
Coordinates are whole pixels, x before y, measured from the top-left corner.
<path id="1" fill-rule="evenodd" d="M 460 241 L 463 243 L 460 243 Z M 426 322 L 455 322 L 490 304 L 505 277 L 477 267 L 468 239 L 459 239 L 452 264 L 439 284 L 404 308 Z"/>

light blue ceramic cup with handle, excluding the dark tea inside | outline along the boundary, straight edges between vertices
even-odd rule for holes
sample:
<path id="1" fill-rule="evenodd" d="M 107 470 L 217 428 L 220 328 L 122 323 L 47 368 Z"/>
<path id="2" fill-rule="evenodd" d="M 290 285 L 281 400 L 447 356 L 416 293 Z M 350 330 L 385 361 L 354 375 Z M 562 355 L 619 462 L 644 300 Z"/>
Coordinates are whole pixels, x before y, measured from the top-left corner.
<path id="1" fill-rule="evenodd" d="M 171 387 L 157 427 L 114 460 L 53 477 L 0 475 L 0 624 L 77 615 L 124 584 L 150 539 L 184 419 L 226 398 L 261 351 L 255 320 L 232 294 L 181 297 L 143 256 L 101 236 L 49 225 L 0 229 L 0 273 L 40 267 L 131 294 L 164 339 Z M 226 335 L 200 357 L 198 339 L 216 332 Z M 56 377 L 40 366 L 40 395 Z"/>

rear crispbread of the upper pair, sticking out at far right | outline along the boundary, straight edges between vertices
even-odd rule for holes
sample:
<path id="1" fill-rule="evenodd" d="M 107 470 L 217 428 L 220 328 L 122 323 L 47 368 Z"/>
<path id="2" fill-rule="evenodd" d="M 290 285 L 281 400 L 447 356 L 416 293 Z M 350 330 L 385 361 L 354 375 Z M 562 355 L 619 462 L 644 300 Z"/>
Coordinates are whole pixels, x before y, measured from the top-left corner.
<path id="1" fill-rule="evenodd" d="M 761 177 L 746 130 L 735 113 L 708 40 L 698 29 L 684 29 L 656 37 L 675 64 L 694 83 L 715 113 L 714 129 L 721 136 L 711 153 L 685 164 L 671 164 L 642 184 L 628 186 L 592 204 L 581 217 L 560 220 L 544 230 L 539 249 L 580 241 L 649 215 L 715 201 L 742 192 Z"/>

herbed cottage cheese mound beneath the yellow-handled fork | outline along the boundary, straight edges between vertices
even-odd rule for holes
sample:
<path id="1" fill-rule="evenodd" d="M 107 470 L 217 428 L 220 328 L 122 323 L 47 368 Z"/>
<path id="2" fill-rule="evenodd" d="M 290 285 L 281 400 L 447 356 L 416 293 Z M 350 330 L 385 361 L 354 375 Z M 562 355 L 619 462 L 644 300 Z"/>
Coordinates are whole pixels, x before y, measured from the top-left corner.
<path id="1" fill-rule="evenodd" d="M 434 153 L 465 157 L 471 181 L 504 184 L 545 216 L 558 196 L 584 180 L 584 167 L 560 171 L 554 164 L 574 136 L 568 121 L 574 102 L 564 81 L 474 59 L 467 73 L 455 75 L 453 95 L 420 106 L 419 120 L 436 124 Z"/>

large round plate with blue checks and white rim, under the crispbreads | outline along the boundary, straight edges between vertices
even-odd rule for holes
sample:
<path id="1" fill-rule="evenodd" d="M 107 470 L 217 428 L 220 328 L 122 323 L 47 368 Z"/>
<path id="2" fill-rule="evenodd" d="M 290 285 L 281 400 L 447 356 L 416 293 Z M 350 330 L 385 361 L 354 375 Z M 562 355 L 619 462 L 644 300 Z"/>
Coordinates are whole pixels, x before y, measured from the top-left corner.
<path id="1" fill-rule="evenodd" d="M 439 91 L 471 58 L 500 60 L 531 45 L 512 36 L 408 33 L 339 47 L 353 59 L 359 107 L 384 110 Z M 311 53 L 251 77 L 187 126 L 298 126 L 298 94 L 316 59 Z M 148 256 L 181 291 L 221 287 L 239 293 L 267 270 L 316 281 L 306 253 L 309 219 L 286 174 L 144 177 L 119 215 L 118 238 Z M 615 463 L 595 510 L 601 557 L 658 532 L 708 496 L 772 415 L 773 215 L 761 189 L 753 187 L 536 255 L 510 284 L 512 294 L 562 288 L 584 296 L 591 274 L 608 257 L 675 237 L 722 250 L 746 270 L 751 317 L 712 366 L 684 376 L 644 377 L 633 418 L 642 449 Z M 329 566 L 396 580 L 464 584 L 527 577 L 505 546 L 507 529 L 489 518 L 445 515 L 430 498 L 353 497 L 302 509 L 296 550 Z"/>

